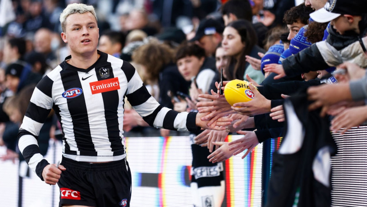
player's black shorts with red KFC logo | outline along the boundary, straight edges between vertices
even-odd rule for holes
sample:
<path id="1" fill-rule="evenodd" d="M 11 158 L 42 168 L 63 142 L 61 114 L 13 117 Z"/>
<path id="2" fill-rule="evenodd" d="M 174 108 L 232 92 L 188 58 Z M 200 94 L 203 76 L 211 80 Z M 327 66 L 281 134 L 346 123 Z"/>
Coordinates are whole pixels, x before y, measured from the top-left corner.
<path id="1" fill-rule="evenodd" d="M 131 172 L 126 158 L 109 163 L 78 162 L 62 157 L 59 207 L 129 207 Z"/>

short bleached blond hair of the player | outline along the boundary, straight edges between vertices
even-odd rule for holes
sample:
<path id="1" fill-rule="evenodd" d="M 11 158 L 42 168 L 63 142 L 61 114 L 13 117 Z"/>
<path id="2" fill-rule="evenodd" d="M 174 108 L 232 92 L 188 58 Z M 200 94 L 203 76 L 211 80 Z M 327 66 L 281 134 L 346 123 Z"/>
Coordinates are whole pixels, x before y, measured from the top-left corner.
<path id="1" fill-rule="evenodd" d="M 88 6 L 86 4 L 69 4 L 60 14 L 60 23 L 62 31 L 65 32 L 66 29 L 66 18 L 71 14 L 84 14 L 90 12 L 95 17 L 95 21 L 97 21 L 97 15 L 95 14 L 94 7 Z"/>

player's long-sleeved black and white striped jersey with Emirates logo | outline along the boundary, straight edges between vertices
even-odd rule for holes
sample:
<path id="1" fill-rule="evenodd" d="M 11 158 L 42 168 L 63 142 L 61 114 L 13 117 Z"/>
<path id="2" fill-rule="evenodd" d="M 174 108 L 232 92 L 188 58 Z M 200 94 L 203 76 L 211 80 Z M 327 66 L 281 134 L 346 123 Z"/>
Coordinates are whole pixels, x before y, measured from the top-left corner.
<path id="1" fill-rule="evenodd" d="M 19 129 L 19 149 L 42 179 L 49 163 L 40 154 L 37 136 L 51 108 L 63 131 L 63 156 L 76 161 L 103 162 L 126 157 L 123 138 L 124 97 L 150 126 L 196 131 L 196 113 L 161 107 L 148 93 L 135 68 L 98 51 L 88 69 L 63 61 L 33 92 Z M 67 57 L 67 59 L 71 56 Z"/>

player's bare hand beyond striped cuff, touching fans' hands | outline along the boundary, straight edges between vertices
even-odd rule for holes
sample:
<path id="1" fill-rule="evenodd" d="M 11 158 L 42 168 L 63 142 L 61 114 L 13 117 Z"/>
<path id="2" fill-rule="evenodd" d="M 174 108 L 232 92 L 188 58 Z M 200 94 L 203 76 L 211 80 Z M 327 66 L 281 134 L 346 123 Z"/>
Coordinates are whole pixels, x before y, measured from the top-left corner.
<path id="1" fill-rule="evenodd" d="M 203 121 L 202 118 L 208 114 L 209 113 L 197 113 L 195 121 L 196 126 L 200 126 L 203 129 L 225 130 L 225 126 L 230 125 L 233 121 L 233 119 L 226 117 Z"/>

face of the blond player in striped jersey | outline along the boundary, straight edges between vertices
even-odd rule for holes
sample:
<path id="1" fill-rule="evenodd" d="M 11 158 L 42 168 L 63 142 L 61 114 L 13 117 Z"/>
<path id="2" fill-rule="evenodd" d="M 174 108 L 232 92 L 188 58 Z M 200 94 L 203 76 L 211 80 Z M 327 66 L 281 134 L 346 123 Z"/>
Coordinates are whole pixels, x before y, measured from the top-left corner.
<path id="1" fill-rule="evenodd" d="M 69 44 L 71 54 L 86 56 L 97 51 L 99 29 L 92 13 L 71 14 L 66 18 L 62 40 Z"/>

